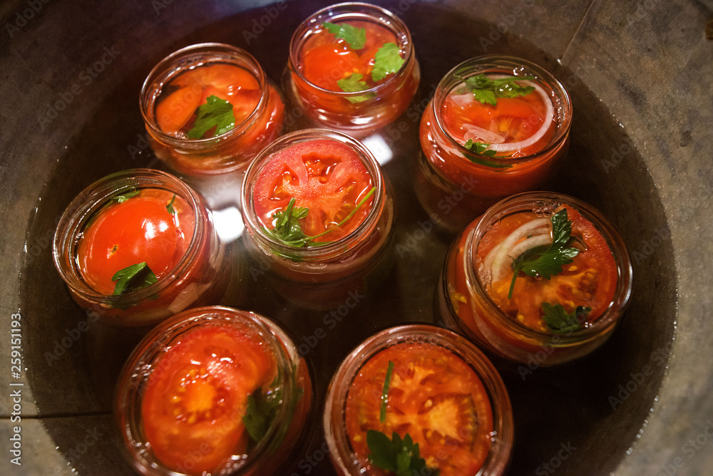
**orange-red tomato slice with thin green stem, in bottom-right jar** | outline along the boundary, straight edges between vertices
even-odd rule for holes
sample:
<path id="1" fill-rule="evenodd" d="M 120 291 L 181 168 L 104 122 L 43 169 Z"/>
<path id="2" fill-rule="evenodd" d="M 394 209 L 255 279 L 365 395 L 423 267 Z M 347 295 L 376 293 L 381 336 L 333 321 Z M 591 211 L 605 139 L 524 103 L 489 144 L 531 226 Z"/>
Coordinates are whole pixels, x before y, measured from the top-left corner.
<path id="1" fill-rule="evenodd" d="M 389 361 L 394 371 L 381 423 Z M 379 352 L 354 378 L 345 412 L 352 446 L 364 460 L 367 430 L 389 438 L 393 432 L 401 438 L 408 433 L 426 465 L 443 476 L 476 474 L 490 450 L 493 415 L 483 383 L 468 364 L 440 346 L 399 344 Z"/>

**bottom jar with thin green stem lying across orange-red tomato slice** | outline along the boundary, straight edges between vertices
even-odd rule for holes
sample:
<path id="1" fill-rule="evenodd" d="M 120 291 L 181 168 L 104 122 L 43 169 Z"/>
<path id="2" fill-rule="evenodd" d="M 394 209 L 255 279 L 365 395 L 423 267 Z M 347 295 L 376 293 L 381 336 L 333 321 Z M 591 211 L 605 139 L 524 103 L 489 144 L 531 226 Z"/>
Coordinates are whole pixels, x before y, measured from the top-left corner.
<path id="1" fill-rule="evenodd" d="M 369 462 L 367 430 L 409 435 L 442 476 L 501 475 L 513 444 L 510 399 L 490 361 L 458 334 L 422 324 L 386 329 L 349 353 L 323 418 L 339 475 L 388 474 Z"/>

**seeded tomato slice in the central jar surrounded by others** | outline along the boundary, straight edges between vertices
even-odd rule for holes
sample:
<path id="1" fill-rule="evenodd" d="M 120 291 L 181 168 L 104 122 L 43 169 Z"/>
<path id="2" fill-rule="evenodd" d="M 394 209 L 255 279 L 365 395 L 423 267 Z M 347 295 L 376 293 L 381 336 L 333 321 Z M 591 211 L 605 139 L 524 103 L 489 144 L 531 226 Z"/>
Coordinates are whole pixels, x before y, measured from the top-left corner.
<path id="1" fill-rule="evenodd" d="M 255 181 L 255 212 L 265 227 L 273 228 L 273 215 L 295 206 L 307 207 L 301 219 L 302 231 L 315 239 L 334 241 L 352 232 L 366 218 L 373 197 L 342 226 L 337 226 L 371 190 L 369 171 L 359 155 L 337 140 L 319 139 L 297 143 L 273 155 Z"/>

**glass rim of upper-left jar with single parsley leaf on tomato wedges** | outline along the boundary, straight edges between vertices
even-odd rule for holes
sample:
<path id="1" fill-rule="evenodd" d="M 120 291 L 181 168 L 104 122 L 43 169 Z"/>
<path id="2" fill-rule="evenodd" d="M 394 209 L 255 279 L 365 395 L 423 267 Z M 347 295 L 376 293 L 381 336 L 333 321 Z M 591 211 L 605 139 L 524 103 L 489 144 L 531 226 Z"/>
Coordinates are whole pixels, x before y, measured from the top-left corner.
<path id="1" fill-rule="evenodd" d="M 261 91 L 260 100 L 255 109 L 241 123 L 235 124 L 234 128 L 212 138 L 178 138 L 163 132 L 158 125 L 158 120 L 156 120 L 155 110 L 156 100 L 158 100 L 164 86 L 186 71 L 213 63 L 232 64 L 244 68 L 252 74 Z M 250 53 L 225 43 L 198 43 L 174 51 L 153 67 L 141 87 L 139 108 L 144 123 L 150 128 L 155 137 L 176 148 L 202 150 L 245 133 L 260 118 L 262 110 L 267 107 L 268 94 L 265 72 L 262 71 L 260 63 Z"/>

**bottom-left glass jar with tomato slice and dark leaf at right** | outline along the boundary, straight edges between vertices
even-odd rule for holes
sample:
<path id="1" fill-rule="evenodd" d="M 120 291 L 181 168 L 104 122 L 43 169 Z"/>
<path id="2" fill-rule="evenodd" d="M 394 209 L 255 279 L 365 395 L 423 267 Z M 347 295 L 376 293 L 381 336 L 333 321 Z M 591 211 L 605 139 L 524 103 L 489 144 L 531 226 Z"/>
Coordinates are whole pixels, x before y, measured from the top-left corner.
<path id="1" fill-rule="evenodd" d="M 120 375 L 115 416 L 143 475 L 245 476 L 291 464 L 311 406 L 307 363 L 289 336 L 258 314 L 213 306 L 145 336 Z"/>

